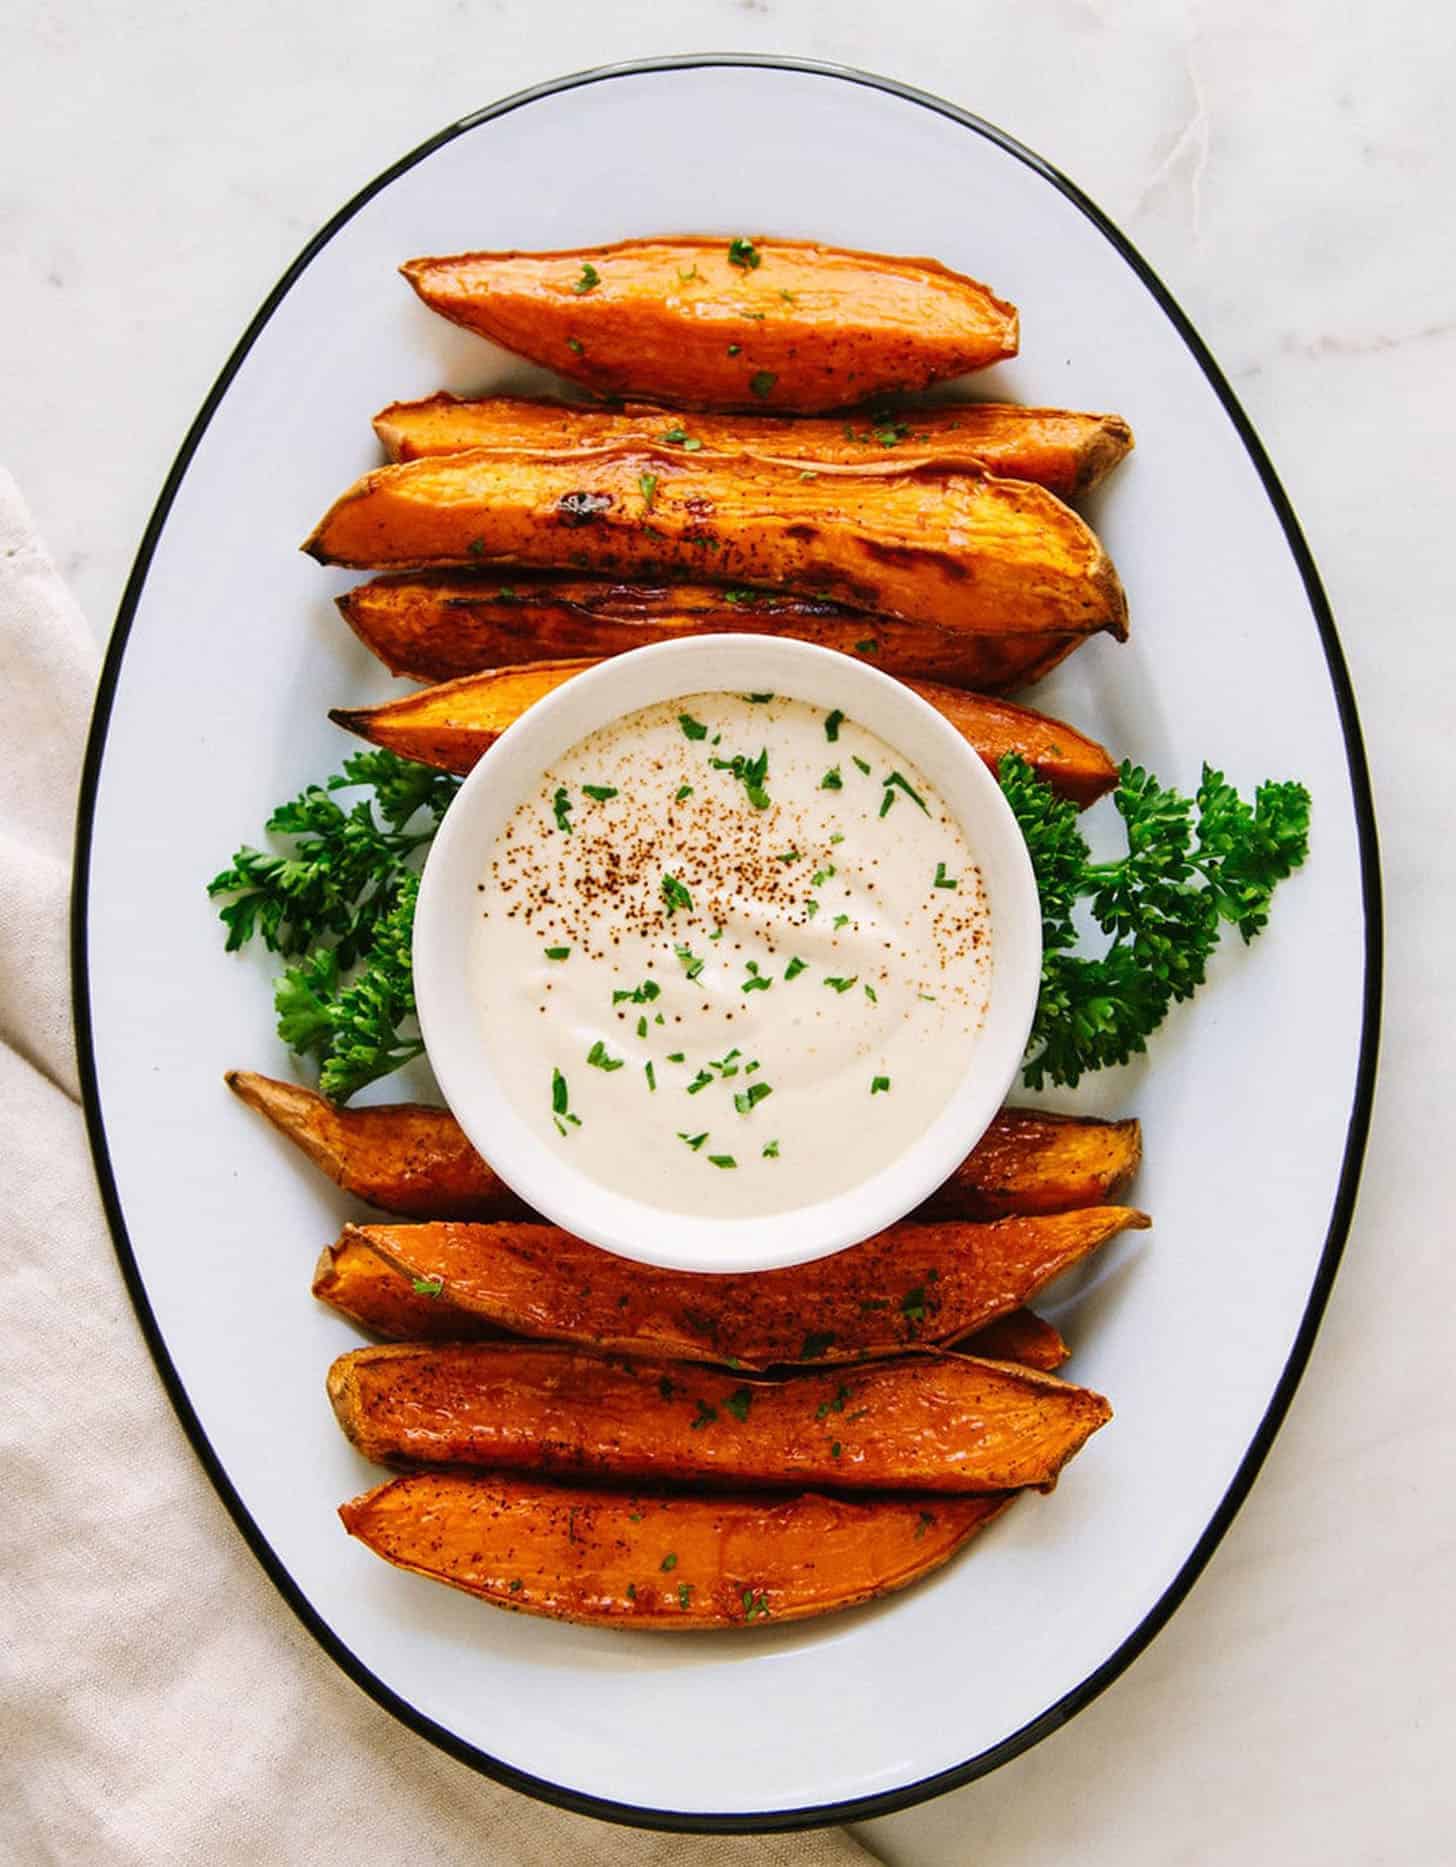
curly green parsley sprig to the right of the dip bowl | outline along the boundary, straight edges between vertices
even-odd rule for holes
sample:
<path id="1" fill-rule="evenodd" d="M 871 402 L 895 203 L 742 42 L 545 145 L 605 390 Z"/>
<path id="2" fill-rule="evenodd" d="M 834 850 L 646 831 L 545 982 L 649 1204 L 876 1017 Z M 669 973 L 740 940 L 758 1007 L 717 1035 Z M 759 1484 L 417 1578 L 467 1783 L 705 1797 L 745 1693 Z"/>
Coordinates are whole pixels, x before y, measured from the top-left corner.
<path id="1" fill-rule="evenodd" d="M 1223 924 L 1245 945 L 1267 924 L 1275 887 L 1309 853 L 1303 784 L 1260 784 L 1254 803 L 1204 765 L 1195 797 L 1165 790 L 1126 762 L 1113 803 L 1127 853 L 1092 863 L 1077 807 L 1008 756 L 1001 788 L 1015 812 L 1042 896 L 1042 990 L 1023 1079 L 1073 1087 L 1127 1062 L 1170 1006 L 1202 986 Z M 1197 816 L 1195 816 L 1197 812 Z M 1073 913 L 1086 902 L 1111 945 L 1075 952 Z"/>

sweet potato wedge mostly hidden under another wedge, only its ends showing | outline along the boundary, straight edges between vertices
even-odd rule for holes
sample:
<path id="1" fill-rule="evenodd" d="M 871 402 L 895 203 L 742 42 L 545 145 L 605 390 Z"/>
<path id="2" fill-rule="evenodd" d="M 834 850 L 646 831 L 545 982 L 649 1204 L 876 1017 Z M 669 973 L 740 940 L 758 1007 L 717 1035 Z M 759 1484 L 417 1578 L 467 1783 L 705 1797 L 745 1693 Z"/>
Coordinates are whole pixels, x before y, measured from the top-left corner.
<path id="1" fill-rule="evenodd" d="M 480 1342 L 504 1333 L 487 1316 L 455 1309 L 442 1283 L 405 1277 L 347 1232 L 323 1247 L 314 1268 L 314 1296 L 390 1342 Z M 1014 1309 L 976 1329 L 959 1352 L 986 1361 L 1019 1361 L 1045 1374 L 1060 1369 L 1070 1354 L 1060 1333 L 1030 1309 Z"/>

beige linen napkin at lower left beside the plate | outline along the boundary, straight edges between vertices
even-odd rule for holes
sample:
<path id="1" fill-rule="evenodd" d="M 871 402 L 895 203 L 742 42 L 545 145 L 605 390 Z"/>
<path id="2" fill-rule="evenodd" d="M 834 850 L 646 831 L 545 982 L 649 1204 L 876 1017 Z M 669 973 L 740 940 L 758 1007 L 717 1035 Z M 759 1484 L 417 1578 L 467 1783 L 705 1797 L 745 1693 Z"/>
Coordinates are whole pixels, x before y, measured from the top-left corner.
<path id="1" fill-rule="evenodd" d="M 844 1833 L 648 1835 L 500 1789 L 366 1699 L 254 1563 L 153 1372 L 77 1102 L 65 904 L 93 681 L 0 472 L 0 1858 L 868 1861 Z"/>

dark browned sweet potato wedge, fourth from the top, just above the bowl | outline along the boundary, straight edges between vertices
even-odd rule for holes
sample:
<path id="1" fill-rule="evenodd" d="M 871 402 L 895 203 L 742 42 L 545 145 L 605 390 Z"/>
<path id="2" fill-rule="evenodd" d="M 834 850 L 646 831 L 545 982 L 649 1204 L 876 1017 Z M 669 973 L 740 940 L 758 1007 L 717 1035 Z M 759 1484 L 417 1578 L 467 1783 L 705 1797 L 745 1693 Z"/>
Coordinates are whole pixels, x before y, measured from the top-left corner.
<path id="1" fill-rule="evenodd" d="M 685 635 L 788 635 L 952 687 L 1029 687 L 1085 635 L 986 635 L 868 616 L 818 597 L 722 584 L 614 584 L 541 573 L 375 577 L 336 597 L 390 674 L 452 681 L 523 661 L 616 655 Z"/>

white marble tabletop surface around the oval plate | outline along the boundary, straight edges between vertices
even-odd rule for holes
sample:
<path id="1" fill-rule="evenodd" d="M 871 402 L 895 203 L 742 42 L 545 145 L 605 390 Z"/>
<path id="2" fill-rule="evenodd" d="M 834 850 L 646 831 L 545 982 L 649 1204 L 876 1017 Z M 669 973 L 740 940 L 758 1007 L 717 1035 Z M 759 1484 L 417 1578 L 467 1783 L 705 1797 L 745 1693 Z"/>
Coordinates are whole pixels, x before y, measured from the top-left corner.
<path id="1" fill-rule="evenodd" d="M 862 1833 L 917 1867 L 1450 1860 L 1450 9 L 15 0 L 4 43 L 0 456 L 99 635 L 187 424 L 297 248 L 521 86 L 683 50 L 862 65 L 1012 131 L 1144 252 L 1273 454 L 1361 702 L 1389 952 L 1365 1186 L 1288 1423 L 1170 1626 L 1030 1755 Z"/>

